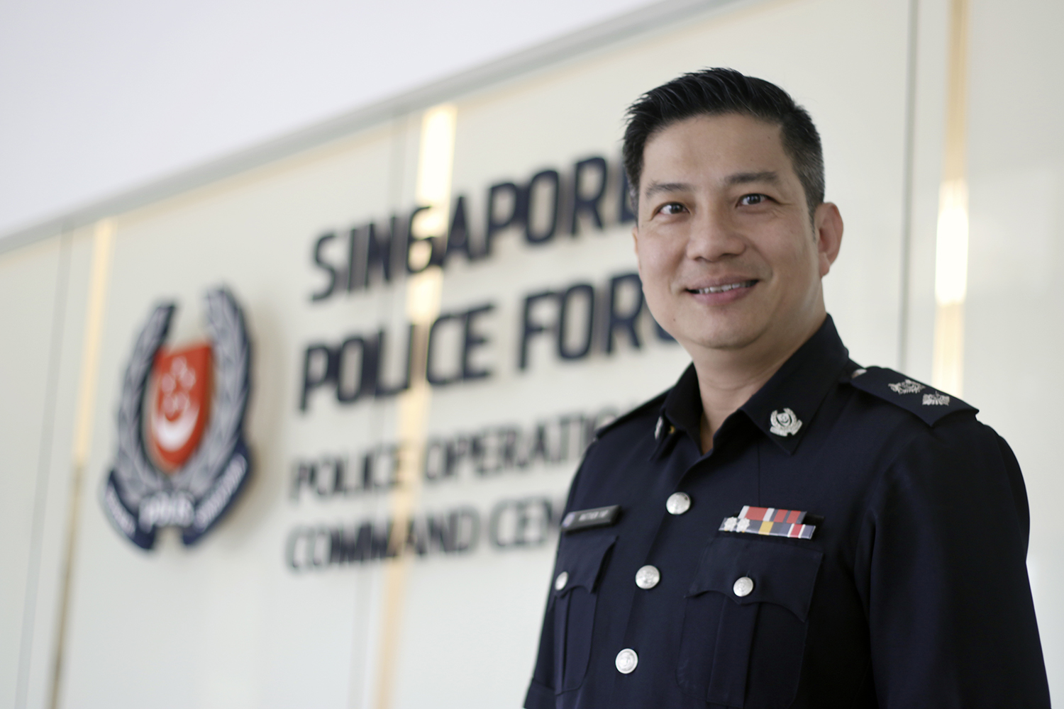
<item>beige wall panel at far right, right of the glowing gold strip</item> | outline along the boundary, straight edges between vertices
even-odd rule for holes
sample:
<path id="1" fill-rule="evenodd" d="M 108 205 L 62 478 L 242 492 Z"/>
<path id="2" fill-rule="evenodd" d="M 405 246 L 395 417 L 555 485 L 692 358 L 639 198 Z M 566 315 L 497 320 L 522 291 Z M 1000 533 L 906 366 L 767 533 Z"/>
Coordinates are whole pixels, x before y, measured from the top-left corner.
<path id="1" fill-rule="evenodd" d="M 1028 569 L 1050 689 L 1064 696 L 1064 9 L 975 2 L 965 398 L 1012 445 L 1031 505 Z"/>

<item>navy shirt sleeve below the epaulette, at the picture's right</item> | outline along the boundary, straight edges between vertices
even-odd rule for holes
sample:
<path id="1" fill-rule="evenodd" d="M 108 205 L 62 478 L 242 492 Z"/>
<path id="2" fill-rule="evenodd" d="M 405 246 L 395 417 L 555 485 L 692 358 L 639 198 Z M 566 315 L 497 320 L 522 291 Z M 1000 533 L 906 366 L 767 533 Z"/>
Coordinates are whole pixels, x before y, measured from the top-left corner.
<path id="1" fill-rule="evenodd" d="M 1016 458 L 970 415 L 910 441 L 870 500 L 855 556 L 884 709 L 1049 707 Z"/>

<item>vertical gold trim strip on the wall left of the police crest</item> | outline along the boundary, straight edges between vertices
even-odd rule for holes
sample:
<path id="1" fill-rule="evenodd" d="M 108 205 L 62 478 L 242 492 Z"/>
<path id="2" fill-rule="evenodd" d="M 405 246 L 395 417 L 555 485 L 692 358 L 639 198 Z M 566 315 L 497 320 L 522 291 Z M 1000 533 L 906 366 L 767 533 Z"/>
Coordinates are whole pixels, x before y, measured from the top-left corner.
<path id="1" fill-rule="evenodd" d="M 63 681 L 63 660 L 66 649 L 67 625 L 70 617 L 73 562 L 77 556 L 79 513 L 85 463 L 88 460 L 93 437 L 93 409 L 96 405 L 96 385 L 99 376 L 100 340 L 103 330 L 103 311 L 111 274 L 111 255 L 114 249 L 115 224 L 105 219 L 97 222 L 93 237 L 93 264 L 89 271 L 88 303 L 85 307 L 85 339 L 81 351 L 81 375 L 78 385 L 78 407 L 74 419 L 72 474 L 70 502 L 67 509 L 67 539 L 63 555 L 63 586 L 60 595 L 60 617 L 55 631 L 55 653 L 52 663 L 52 687 L 49 706 L 60 706 Z"/>

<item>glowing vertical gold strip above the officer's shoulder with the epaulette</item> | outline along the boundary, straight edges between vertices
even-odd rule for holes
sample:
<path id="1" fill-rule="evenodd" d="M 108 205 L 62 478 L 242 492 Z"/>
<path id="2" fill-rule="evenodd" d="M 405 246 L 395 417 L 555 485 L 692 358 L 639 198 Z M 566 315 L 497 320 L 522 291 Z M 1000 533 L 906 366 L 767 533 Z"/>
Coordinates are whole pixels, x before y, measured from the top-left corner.
<path id="1" fill-rule="evenodd" d="M 935 244 L 935 324 L 931 383 L 963 394 L 964 301 L 968 271 L 968 0 L 951 0 L 946 134 Z"/>

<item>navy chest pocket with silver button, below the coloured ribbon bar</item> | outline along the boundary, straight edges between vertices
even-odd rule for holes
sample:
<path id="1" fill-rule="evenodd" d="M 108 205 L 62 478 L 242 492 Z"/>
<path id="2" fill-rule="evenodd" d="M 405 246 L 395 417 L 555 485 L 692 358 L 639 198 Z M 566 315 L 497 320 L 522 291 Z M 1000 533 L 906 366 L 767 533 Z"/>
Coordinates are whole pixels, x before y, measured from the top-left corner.
<path id="1" fill-rule="evenodd" d="M 677 681 L 739 709 L 782 709 L 798 691 L 820 552 L 718 537 L 684 602 Z"/>

